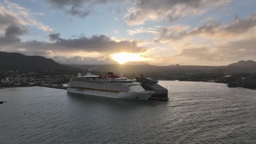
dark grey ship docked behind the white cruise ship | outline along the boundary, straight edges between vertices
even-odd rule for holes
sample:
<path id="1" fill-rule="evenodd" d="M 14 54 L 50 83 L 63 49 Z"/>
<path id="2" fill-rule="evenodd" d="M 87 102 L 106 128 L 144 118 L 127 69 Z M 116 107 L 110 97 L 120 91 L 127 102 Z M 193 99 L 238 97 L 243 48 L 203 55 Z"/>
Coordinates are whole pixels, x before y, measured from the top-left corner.
<path id="1" fill-rule="evenodd" d="M 141 83 L 141 86 L 146 91 L 154 91 L 155 93 L 152 95 L 152 99 L 159 99 L 159 100 L 168 100 L 168 90 L 165 87 L 162 87 L 158 84 L 158 80 L 154 80 L 148 77 L 136 77 L 136 81 Z"/>

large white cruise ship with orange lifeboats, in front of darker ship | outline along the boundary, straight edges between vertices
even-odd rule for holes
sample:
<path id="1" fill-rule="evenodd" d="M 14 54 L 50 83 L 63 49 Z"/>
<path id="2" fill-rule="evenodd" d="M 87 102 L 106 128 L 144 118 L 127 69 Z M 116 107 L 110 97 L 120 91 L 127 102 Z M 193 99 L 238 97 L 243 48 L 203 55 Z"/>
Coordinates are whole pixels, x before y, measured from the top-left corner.
<path id="1" fill-rule="evenodd" d="M 67 92 L 117 99 L 147 100 L 154 91 L 146 91 L 136 80 L 108 73 L 104 77 L 94 75 L 90 70 L 86 75 L 78 74 L 67 85 Z"/>

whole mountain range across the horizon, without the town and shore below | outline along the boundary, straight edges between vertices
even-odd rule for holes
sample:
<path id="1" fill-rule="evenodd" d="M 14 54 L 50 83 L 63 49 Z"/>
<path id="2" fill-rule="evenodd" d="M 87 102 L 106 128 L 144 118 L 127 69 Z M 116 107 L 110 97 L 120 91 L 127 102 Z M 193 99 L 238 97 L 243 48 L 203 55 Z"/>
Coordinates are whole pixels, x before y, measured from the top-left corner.
<path id="1" fill-rule="evenodd" d="M 256 73 L 256 62 L 240 61 L 226 66 L 200 65 L 75 65 L 59 64 L 42 56 L 25 56 L 21 53 L 0 52 L 0 70 L 87 70 L 97 73 L 113 71 L 120 74 L 196 74 L 196 73 Z"/>

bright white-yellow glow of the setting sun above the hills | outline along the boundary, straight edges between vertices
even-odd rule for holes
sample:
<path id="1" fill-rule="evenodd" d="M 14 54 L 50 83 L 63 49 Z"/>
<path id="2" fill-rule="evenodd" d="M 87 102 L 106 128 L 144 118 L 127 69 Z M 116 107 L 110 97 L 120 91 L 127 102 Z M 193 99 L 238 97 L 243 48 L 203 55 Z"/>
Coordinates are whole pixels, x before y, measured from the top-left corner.
<path id="1" fill-rule="evenodd" d="M 110 55 L 110 57 L 120 64 L 124 64 L 126 62 L 146 61 L 146 58 L 142 57 L 139 53 L 122 52 Z"/>

